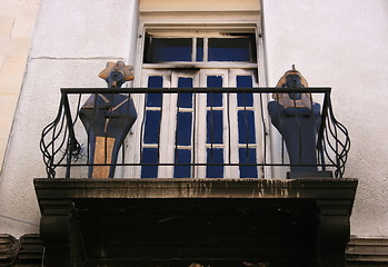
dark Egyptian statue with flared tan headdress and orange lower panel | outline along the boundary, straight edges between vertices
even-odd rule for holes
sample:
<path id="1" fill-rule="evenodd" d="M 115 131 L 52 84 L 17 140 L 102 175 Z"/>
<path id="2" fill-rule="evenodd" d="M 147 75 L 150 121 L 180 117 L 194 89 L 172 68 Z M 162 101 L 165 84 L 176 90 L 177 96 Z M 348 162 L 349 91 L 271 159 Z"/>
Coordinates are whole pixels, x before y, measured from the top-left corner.
<path id="1" fill-rule="evenodd" d="M 108 62 L 99 77 L 108 88 L 121 88 L 135 78 L 122 61 Z M 137 119 L 132 99 L 120 93 L 94 93 L 83 103 L 79 116 L 88 134 L 89 178 L 112 178 L 120 147 Z"/>

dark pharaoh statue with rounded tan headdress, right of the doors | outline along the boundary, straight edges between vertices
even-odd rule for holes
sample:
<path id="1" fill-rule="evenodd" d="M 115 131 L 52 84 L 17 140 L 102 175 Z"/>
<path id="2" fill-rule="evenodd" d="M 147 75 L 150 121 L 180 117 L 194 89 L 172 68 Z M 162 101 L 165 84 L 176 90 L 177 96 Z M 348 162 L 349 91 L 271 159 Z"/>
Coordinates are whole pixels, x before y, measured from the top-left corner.
<path id="1" fill-rule="evenodd" d="M 291 174 L 317 172 L 317 166 L 312 165 L 317 165 L 316 139 L 320 125 L 320 105 L 312 101 L 311 93 L 298 92 L 297 89 L 308 87 L 308 83 L 295 66 L 286 71 L 276 87 L 295 89 L 295 92 L 273 93 L 273 101 L 268 103 L 271 122 L 286 142 Z"/>

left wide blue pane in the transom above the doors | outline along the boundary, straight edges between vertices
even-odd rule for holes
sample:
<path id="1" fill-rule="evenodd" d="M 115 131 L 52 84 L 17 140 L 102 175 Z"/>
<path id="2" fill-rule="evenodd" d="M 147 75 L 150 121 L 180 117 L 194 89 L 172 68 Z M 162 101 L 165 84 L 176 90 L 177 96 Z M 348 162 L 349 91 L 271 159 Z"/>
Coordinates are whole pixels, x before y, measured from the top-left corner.
<path id="1" fill-rule="evenodd" d="M 150 63 L 191 61 L 191 38 L 152 38 L 150 46 Z"/>

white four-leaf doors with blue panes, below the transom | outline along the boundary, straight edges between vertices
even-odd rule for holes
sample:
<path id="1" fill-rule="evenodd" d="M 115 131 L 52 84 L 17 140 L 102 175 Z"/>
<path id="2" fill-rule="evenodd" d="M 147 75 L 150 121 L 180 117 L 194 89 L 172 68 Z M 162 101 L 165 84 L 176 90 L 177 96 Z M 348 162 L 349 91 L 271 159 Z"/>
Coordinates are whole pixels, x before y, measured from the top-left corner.
<path id="1" fill-rule="evenodd" d="M 251 69 L 147 69 L 142 76 L 142 86 L 148 88 L 257 87 L 255 70 Z M 147 93 L 143 97 L 142 164 L 213 166 L 146 166 L 141 168 L 140 177 L 260 177 L 262 170 L 257 167 L 219 166 L 256 164 L 262 157 L 257 144 L 262 138 L 258 96 L 247 92 Z"/>

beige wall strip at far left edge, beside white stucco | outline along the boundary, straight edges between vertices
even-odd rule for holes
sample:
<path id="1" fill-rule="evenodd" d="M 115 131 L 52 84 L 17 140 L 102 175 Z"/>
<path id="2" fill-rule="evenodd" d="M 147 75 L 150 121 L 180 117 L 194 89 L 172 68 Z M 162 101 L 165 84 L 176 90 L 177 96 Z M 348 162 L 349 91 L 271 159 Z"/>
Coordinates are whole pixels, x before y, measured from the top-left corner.
<path id="1" fill-rule="evenodd" d="M 40 0 L 1 0 L 0 171 L 13 121 Z"/>

